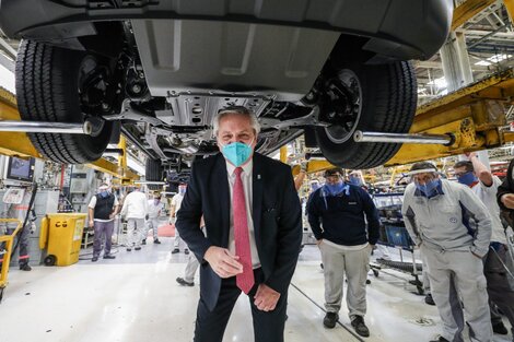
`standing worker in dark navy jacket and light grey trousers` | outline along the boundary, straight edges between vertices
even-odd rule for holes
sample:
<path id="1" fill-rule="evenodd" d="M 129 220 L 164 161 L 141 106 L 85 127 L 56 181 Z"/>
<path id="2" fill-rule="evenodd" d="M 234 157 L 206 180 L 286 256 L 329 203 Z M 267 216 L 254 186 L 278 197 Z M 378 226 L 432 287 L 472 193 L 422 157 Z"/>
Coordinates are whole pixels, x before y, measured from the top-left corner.
<path id="1" fill-rule="evenodd" d="M 367 192 L 342 181 L 342 169 L 326 170 L 325 180 L 307 203 L 308 223 L 322 251 L 325 272 L 327 315 L 323 323 L 334 328 L 339 319 L 346 272 L 351 325 L 361 337 L 369 337 L 364 323 L 366 275 L 371 250 L 378 240 L 378 212 Z"/>

